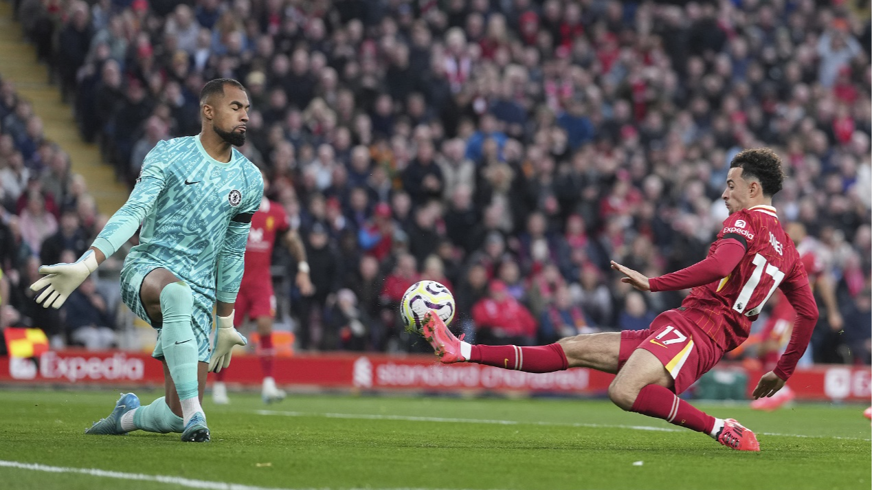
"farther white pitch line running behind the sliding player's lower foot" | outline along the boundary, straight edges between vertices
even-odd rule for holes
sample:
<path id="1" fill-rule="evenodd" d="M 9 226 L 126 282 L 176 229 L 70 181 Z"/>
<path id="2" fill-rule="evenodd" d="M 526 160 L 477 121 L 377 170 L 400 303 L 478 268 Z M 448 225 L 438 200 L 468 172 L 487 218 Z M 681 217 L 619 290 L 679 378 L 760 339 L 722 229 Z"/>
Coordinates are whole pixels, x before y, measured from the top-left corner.
<path id="1" fill-rule="evenodd" d="M 280 415 L 283 417 L 324 417 L 326 419 L 369 419 L 369 420 L 407 420 L 410 422 L 449 422 L 455 424 L 494 424 L 494 425 L 550 425 L 560 427 L 588 427 L 592 429 L 631 429 L 634 431 L 654 432 L 686 432 L 685 429 L 671 429 L 669 427 L 655 427 L 653 425 L 619 425 L 619 424 L 585 424 L 582 422 L 518 422 L 516 420 L 493 420 L 493 419 L 448 419 L 441 417 L 415 417 L 405 415 L 373 415 L 368 413 L 317 413 L 317 412 L 280 412 L 275 410 L 255 410 L 257 415 Z M 855 438 L 843 436 L 807 436 L 802 434 L 782 434 L 779 432 L 755 432 L 765 436 L 792 437 L 804 439 L 841 439 L 841 440 L 865 440 L 868 438 Z"/>

